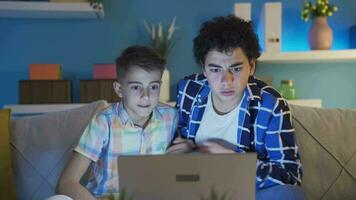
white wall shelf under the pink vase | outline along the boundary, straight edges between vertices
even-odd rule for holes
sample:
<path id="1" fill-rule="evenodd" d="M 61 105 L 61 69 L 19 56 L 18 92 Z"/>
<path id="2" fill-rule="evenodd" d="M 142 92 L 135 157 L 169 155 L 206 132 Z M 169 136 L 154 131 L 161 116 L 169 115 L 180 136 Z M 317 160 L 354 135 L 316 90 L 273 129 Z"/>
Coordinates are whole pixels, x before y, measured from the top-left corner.
<path id="1" fill-rule="evenodd" d="M 260 63 L 354 62 L 356 49 L 262 53 Z"/>

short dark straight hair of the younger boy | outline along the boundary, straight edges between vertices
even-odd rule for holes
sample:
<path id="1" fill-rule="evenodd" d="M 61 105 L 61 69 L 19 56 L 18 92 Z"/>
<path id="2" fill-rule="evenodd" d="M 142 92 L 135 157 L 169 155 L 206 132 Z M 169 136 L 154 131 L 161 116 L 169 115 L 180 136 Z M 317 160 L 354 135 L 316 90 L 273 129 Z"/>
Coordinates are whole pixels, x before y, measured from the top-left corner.
<path id="1" fill-rule="evenodd" d="M 120 80 L 134 67 L 140 67 L 148 72 L 158 70 L 163 73 L 166 59 L 146 46 L 131 46 L 126 48 L 116 59 L 116 74 Z"/>

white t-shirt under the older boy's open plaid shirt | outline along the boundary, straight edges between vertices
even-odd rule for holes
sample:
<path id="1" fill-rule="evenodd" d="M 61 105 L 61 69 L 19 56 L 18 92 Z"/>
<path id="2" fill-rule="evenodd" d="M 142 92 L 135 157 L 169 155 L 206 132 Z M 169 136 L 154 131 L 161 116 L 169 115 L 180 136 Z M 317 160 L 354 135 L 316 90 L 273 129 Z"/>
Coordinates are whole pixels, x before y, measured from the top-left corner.
<path id="1" fill-rule="evenodd" d="M 213 108 L 210 92 L 204 115 L 195 137 L 195 142 L 201 144 L 208 139 L 217 138 L 237 145 L 238 111 L 241 107 L 241 102 L 242 100 L 239 105 L 229 113 L 218 115 Z"/>

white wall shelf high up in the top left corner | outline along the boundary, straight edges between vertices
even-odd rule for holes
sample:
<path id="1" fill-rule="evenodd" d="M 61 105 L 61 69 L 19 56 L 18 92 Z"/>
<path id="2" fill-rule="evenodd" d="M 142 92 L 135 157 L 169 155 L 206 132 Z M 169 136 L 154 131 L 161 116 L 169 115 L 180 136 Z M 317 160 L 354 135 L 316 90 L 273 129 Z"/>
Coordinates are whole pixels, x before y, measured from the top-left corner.
<path id="1" fill-rule="evenodd" d="M 93 9 L 88 2 L 0 1 L 0 18 L 97 19 L 104 11 Z"/>

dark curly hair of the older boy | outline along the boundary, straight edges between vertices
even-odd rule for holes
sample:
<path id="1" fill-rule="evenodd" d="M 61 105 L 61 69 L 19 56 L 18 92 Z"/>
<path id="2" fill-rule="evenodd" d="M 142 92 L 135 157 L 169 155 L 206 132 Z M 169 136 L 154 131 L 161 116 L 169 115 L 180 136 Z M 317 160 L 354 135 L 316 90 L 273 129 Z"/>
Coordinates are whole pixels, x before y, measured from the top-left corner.
<path id="1" fill-rule="evenodd" d="M 233 15 L 215 17 L 204 22 L 193 43 L 195 60 L 199 64 L 204 64 L 211 50 L 229 52 L 241 48 L 249 61 L 256 60 L 261 55 L 253 23 Z"/>

